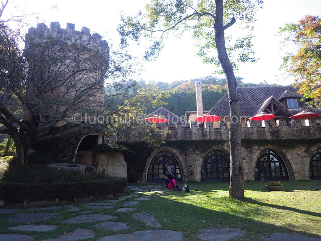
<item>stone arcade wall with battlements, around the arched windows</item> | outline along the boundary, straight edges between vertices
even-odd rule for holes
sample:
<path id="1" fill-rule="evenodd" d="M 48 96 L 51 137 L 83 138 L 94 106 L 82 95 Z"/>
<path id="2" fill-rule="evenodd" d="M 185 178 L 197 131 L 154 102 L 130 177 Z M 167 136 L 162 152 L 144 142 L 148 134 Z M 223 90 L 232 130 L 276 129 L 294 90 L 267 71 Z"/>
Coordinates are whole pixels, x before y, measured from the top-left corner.
<path id="1" fill-rule="evenodd" d="M 143 181 L 146 181 L 146 173 L 153 156 L 163 150 L 170 152 L 176 158 L 183 174 L 183 181 L 201 181 L 202 165 L 210 152 L 220 150 L 229 156 L 228 127 L 229 125 L 224 123 L 220 123 L 220 128 L 213 128 L 212 125 L 200 128 L 199 123 L 196 122 L 191 123 L 191 128 L 177 125 L 177 128 L 171 130 L 166 141 L 223 140 L 223 142 L 213 145 L 207 151 L 191 148 L 186 152 L 168 146 L 157 149 L 146 160 L 145 171 L 142 175 Z M 282 158 L 290 180 L 309 180 L 311 156 L 318 148 L 321 148 L 321 139 L 318 142 L 319 138 L 321 138 L 321 126 L 316 124 L 314 120 L 310 120 L 310 126 L 308 127 L 302 126 L 300 120 L 295 120 L 290 126 L 287 126 L 285 120 L 266 121 L 265 127 L 258 126 L 257 122 L 250 123 L 249 127 L 242 128 L 244 143 L 246 141 L 252 142 L 250 147 L 246 145 L 242 147 L 244 180 L 255 180 L 255 167 L 258 157 L 266 149 L 275 151 Z M 257 144 L 255 140 L 257 140 Z M 291 142 L 296 140 L 299 143 L 291 145 Z M 309 140 L 313 140 L 313 145 L 306 145 Z"/>

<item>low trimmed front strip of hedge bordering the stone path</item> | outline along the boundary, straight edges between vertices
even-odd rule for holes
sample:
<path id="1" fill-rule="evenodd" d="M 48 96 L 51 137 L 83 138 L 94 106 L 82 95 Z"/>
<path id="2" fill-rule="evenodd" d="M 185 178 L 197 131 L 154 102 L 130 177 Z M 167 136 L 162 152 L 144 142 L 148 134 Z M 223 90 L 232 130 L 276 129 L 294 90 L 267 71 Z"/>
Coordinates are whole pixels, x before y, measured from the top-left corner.
<path id="1" fill-rule="evenodd" d="M 1 182 L 0 199 L 4 199 L 6 203 L 22 203 L 24 199 L 64 200 L 73 197 L 117 194 L 124 192 L 126 185 L 125 178 L 55 183 Z"/>

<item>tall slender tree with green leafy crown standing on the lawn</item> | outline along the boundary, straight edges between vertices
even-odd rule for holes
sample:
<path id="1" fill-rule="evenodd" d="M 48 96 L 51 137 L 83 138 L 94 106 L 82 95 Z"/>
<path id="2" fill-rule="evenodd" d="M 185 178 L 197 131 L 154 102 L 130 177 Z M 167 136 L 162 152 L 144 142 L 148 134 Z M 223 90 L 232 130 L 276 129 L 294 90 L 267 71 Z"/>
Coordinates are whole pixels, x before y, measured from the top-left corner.
<path id="1" fill-rule="evenodd" d="M 138 41 L 141 37 L 158 35 L 145 59 L 156 56 L 163 47 L 163 39 L 170 31 L 192 30 L 198 54 L 208 63 L 221 65 L 225 74 L 230 100 L 230 115 L 240 116 L 240 105 L 236 91 L 237 81 L 233 72 L 236 61 L 254 62 L 251 50 L 251 36 L 228 36 L 225 31 L 239 20 L 241 26 L 250 28 L 254 13 L 262 1 L 256 0 L 151 0 L 146 5 L 146 14 L 136 17 L 123 17 L 123 24 L 118 27 L 121 44 L 128 45 L 128 38 Z M 241 25 L 243 24 L 243 25 Z M 234 40 L 234 41 L 232 41 Z M 214 57 L 217 49 L 218 57 Z M 232 61 L 230 61 L 232 60 Z M 244 196 L 243 165 L 241 160 L 241 125 L 235 120 L 230 128 L 231 179 L 230 195 L 236 198 Z"/>

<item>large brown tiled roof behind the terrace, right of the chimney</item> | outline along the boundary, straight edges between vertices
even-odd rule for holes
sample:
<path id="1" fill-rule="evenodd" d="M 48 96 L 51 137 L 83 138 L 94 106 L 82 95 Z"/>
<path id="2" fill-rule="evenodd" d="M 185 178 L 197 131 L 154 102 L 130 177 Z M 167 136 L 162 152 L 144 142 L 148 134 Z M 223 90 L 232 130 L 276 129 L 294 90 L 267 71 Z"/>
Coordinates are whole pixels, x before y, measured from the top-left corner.
<path id="1" fill-rule="evenodd" d="M 240 110 L 243 116 L 253 116 L 257 114 L 265 101 L 272 95 L 275 99 L 282 98 L 299 98 L 301 95 L 296 94 L 296 90 L 292 86 L 260 86 L 260 87 L 238 87 L 240 99 Z M 303 109 L 289 109 L 292 114 L 302 111 Z M 320 113 L 321 109 L 311 108 L 313 112 Z M 209 114 L 217 114 L 224 118 L 230 116 L 230 107 L 228 100 L 228 92 L 216 103 L 216 105 L 208 112 Z"/>

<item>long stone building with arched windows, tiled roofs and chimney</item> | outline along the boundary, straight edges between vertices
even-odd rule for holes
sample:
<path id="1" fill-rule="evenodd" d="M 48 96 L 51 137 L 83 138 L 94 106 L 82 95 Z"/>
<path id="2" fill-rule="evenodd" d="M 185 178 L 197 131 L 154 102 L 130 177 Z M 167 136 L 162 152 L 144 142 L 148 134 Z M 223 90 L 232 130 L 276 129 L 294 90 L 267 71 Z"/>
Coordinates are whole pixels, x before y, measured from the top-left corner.
<path id="1" fill-rule="evenodd" d="M 239 87 L 238 94 L 241 116 L 230 118 L 226 93 L 208 112 L 221 116 L 216 123 L 197 123 L 191 117 L 189 122 L 173 118 L 175 114 L 164 107 L 154 111 L 152 114 L 169 118 L 168 124 L 158 127 L 168 127 L 171 133 L 166 144 L 152 151 L 144 161 L 142 181 L 162 182 L 168 162 L 175 166 L 179 181 L 229 181 L 231 121 L 242 124 L 244 180 L 321 179 L 320 118 L 289 119 L 303 110 L 302 96 L 292 86 Z M 201 107 L 197 109 L 202 113 Z M 321 113 L 317 108 L 310 111 Z M 249 117 L 258 112 L 274 113 L 276 117 L 250 122 Z M 182 148 L 184 145 L 187 148 Z"/>

